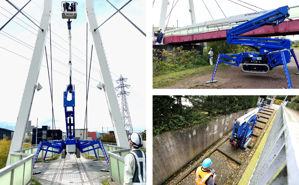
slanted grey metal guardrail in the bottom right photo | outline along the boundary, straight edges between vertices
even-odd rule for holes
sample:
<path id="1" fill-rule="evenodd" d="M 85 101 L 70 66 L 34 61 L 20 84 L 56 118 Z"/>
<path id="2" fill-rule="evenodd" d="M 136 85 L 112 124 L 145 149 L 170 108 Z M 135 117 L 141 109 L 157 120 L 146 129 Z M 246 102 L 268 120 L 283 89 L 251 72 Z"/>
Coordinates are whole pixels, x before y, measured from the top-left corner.
<path id="1" fill-rule="evenodd" d="M 298 184 L 299 124 L 280 105 L 251 175 L 250 184 Z"/>

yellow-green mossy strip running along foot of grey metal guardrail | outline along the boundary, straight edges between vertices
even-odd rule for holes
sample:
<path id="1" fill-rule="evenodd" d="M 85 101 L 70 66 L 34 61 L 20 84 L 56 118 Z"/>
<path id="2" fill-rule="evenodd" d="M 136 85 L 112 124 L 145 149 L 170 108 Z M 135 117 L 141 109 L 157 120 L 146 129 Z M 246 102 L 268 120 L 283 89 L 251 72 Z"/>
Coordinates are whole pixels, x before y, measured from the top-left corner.
<path id="1" fill-rule="evenodd" d="M 276 113 L 277 113 L 277 112 L 276 112 Z M 262 149 L 263 149 L 263 146 L 264 146 L 264 144 L 265 144 L 265 142 L 266 142 L 266 139 L 267 139 L 267 137 L 268 137 L 268 134 L 269 134 L 269 132 L 270 132 L 270 129 L 271 129 L 271 127 L 272 127 L 272 124 L 273 124 L 273 122 L 274 122 L 274 119 L 275 119 L 275 117 L 276 117 L 276 113 L 275 113 L 275 115 L 273 116 L 273 118 L 272 118 L 272 120 L 271 120 L 271 122 L 270 122 L 270 124 L 269 124 L 269 126 L 268 126 L 268 128 L 267 128 L 267 130 L 266 130 L 266 132 L 265 132 L 265 134 L 264 134 L 264 136 L 263 136 L 263 138 L 262 138 L 261 141 L 259 142 L 259 146 L 256 148 L 255 153 L 253 154 L 253 156 L 252 156 L 250 162 L 248 163 L 248 166 L 246 167 L 246 169 L 245 169 L 245 171 L 244 171 L 244 173 L 243 173 L 241 179 L 239 180 L 238 184 L 247 184 L 247 183 L 249 182 L 250 177 L 251 177 L 251 174 L 252 174 L 252 172 L 253 172 L 253 170 L 254 170 L 254 168 L 255 168 L 255 164 L 256 164 L 257 161 L 258 161 L 259 154 L 261 153 L 261 151 L 262 151 Z"/>

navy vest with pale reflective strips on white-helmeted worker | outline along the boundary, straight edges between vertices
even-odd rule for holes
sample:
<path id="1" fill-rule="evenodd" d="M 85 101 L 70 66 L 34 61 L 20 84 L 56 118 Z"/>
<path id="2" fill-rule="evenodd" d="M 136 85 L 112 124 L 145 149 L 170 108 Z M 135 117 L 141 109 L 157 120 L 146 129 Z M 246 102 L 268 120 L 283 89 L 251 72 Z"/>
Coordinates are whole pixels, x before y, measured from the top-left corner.
<path id="1" fill-rule="evenodd" d="M 135 172 L 133 176 L 132 185 L 145 185 L 146 184 L 146 154 L 141 150 L 131 151 L 135 158 Z"/>

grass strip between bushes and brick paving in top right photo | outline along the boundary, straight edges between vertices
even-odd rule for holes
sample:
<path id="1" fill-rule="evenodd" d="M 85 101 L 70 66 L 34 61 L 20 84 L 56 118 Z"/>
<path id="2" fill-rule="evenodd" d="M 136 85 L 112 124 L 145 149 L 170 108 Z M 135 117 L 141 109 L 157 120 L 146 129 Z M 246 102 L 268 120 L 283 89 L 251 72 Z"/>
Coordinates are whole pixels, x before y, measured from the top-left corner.
<path id="1" fill-rule="evenodd" d="M 217 69 L 221 70 L 228 67 L 230 67 L 230 65 L 220 63 Z M 186 69 L 183 71 L 170 72 L 165 75 L 154 76 L 153 88 L 163 88 L 166 86 L 170 86 L 181 80 L 185 80 L 199 75 L 211 74 L 212 77 L 212 73 L 214 69 L 215 69 L 215 65 L 207 65 L 207 66 L 202 66 L 202 67 L 197 67 L 192 69 Z"/>

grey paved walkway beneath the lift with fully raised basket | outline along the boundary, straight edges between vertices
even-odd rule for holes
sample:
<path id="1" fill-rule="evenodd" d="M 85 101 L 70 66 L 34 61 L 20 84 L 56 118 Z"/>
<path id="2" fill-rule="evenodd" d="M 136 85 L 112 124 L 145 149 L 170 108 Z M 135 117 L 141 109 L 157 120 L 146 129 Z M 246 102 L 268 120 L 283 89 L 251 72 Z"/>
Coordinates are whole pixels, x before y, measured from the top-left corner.
<path id="1" fill-rule="evenodd" d="M 44 185 L 97 185 L 110 178 L 106 161 L 92 161 L 90 159 L 76 158 L 75 155 L 66 155 L 65 159 L 59 157 L 55 161 L 39 162 L 33 171 L 41 171 L 33 178 Z"/>

